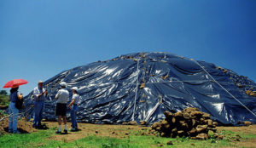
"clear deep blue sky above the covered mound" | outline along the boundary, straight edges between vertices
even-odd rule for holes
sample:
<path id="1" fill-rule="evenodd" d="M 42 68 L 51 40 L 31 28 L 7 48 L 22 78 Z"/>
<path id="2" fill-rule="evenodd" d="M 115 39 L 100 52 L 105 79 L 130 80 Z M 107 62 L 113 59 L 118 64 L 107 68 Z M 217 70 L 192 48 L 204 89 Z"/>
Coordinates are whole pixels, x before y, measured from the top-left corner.
<path id="1" fill-rule="evenodd" d="M 143 51 L 206 60 L 256 81 L 256 1 L 0 1 L 0 89 L 24 78 L 28 94 L 61 71 Z"/>

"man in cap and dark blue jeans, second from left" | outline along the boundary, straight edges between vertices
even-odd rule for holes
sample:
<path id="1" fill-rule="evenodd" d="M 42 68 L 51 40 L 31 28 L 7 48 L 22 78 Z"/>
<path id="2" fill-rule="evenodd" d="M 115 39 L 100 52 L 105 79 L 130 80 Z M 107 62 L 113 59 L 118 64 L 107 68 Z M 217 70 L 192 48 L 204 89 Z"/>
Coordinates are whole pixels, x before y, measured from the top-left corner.
<path id="1" fill-rule="evenodd" d="M 43 119 L 43 110 L 44 110 L 44 100 L 47 96 L 47 90 L 43 88 L 43 81 L 38 82 L 38 87 L 34 88 L 34 119 L 33 119 L 33 128 L 41 128 L 41 121 Z"/>

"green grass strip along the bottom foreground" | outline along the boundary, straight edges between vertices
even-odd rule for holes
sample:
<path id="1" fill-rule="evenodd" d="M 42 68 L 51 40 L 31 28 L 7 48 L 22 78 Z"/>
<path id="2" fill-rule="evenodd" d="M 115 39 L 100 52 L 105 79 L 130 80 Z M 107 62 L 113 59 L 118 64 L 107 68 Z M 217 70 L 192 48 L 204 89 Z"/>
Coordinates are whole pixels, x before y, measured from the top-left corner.
<path id="1" fill-rule="evenodd" d="M 55 134 L 55 129 L 41 130 L 32 134 L 6 134 L 0 136 L 0 147 L 99 147 L 99 148 L 137 148 L 137 147 L 159 147 L 163 144 L 163 147 L 229 147 L 231 144 L 229 139 L 216 140 L 193 140 L 188 138 L 163 138 L 158 136 L 148 135 L 136 135 L 131 134 L 129 138 L 116 139 L 109 137 L 100 137 L 96 135 L 90 135 L 82 139 L 73 140 L 67 142 L 66 139 L 54 140 L 49 139 L 50 136 Z M 224 135 L 236 135 L 231 131 L 223 131 Z M 243 134 L 245 138 L 255 138 L 256 135 Z M 168 141 L 172 140 L 173 145 L 166 145 Z M 194 145 L 191 145 L 191 144 Z"/>

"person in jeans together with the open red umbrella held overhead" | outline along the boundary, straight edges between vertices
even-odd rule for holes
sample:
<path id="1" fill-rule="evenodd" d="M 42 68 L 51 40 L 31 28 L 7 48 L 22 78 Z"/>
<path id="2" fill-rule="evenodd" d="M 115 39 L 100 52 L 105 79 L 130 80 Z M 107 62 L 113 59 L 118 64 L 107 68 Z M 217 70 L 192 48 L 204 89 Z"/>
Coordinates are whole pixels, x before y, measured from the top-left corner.
<path id="1" fill-rule="evenodd" d="M 18 125 L 18 115 L 20 105 L 18 105 L 20 100 L 23 99 L 23 94 L 20 94 L 19 86 L 28 83 L 24 79 L 15 79 L 6 83 L 3 88 L 11 88 L 9 94 L 9 133 L 20 134 L 17 130 Z"/>

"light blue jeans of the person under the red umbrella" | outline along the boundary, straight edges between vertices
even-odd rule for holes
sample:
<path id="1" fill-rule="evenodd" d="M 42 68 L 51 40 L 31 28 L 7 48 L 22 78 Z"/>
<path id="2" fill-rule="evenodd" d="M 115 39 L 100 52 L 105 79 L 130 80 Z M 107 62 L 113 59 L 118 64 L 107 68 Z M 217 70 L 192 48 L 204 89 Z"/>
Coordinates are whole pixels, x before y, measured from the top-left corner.
<path id="1" fill-rule="evenodd" d="M 9 114 L 12 114 L 11 117 L 9 117 L 9 133 L 17 133 L 19 110 L 15 107 L 15 102 L 10 102 Z"/>

